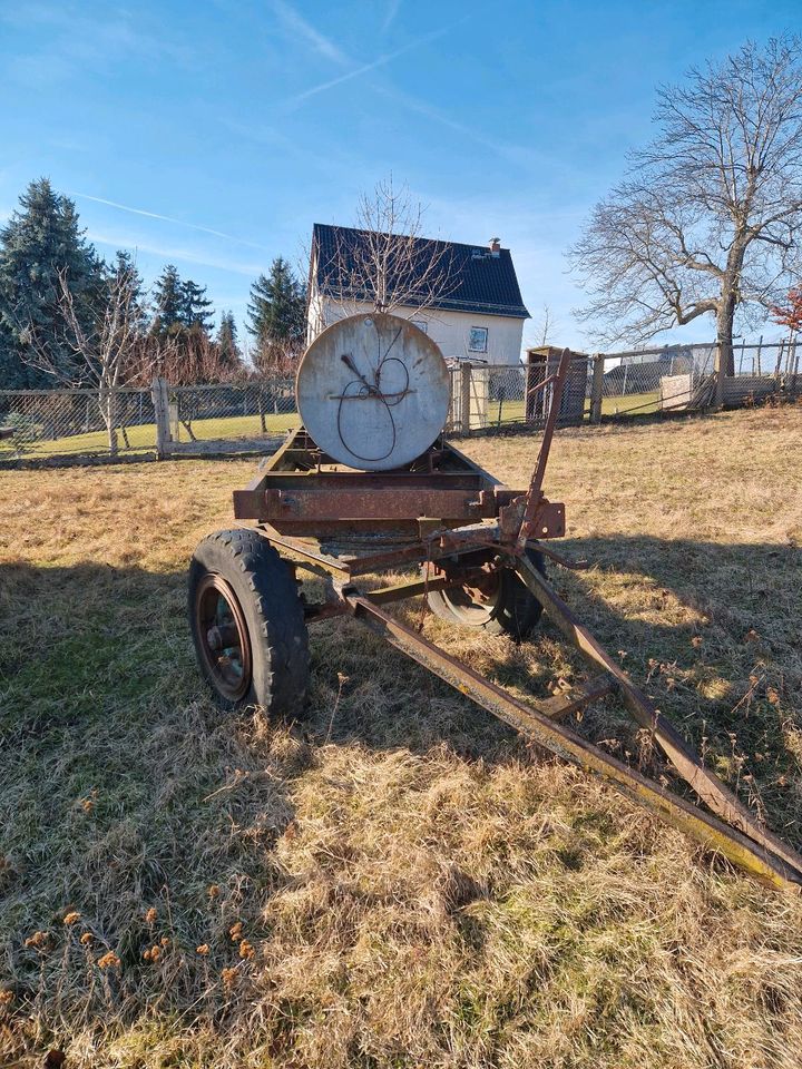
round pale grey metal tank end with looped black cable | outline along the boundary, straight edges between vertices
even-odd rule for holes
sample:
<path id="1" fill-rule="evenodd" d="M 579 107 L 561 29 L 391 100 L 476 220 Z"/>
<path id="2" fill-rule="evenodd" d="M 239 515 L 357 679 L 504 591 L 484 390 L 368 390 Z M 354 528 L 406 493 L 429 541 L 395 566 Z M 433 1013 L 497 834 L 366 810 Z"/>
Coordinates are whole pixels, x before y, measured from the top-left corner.
<path id="1" fill-rule="evenodd" d="M 409 320 L 371 313 L 340 320 L 306 350 L 299 412 L 335 461 L 387 471 L 420 457 L 448 419 L 451 382 L 434 342 Z"/>

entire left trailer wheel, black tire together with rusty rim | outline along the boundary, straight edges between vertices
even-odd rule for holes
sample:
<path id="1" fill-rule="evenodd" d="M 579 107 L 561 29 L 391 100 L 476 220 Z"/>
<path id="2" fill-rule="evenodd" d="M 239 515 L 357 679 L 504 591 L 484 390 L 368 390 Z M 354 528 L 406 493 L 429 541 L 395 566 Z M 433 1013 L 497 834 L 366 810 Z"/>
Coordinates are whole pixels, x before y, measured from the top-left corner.
<path id="1" fill-rule="evenodd" d="M 309 635 L 290 567 L 257 531 L 205 538 L 189 565 L 195 654 L 223 709 L 301 712 L 309 686 Z"/>

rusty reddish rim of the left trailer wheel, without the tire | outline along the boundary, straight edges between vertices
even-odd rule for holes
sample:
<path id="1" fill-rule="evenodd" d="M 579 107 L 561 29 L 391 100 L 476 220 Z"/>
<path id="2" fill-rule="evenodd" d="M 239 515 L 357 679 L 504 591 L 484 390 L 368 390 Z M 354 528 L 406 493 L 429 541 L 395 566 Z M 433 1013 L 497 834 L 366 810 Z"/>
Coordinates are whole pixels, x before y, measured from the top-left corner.
<path id="1" fill-rule="evenodd" d="M 222 576 L 200 580 L 195 626 L 207 674 L 223 697 L 236 702 L 251 689 L 251 640 L 242 607 Z"/>

